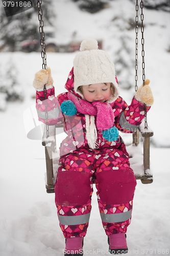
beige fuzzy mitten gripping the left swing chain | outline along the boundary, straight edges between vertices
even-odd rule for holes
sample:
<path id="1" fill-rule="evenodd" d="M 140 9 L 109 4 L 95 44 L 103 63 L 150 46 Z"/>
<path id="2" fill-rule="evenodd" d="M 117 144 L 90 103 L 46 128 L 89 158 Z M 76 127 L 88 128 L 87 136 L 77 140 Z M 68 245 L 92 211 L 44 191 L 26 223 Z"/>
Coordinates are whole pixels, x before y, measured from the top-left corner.
<path id="1" fill-rule="evenodd" d="M 41 69 L 35 74 L 35 78 L 33 81 L 33 87 L 36 89 L 36 91 L 43 91 L 44 84 L 46 86 L 46 89 L 53 88 L 53 78 L 51 75 L 51 69 Z"/>

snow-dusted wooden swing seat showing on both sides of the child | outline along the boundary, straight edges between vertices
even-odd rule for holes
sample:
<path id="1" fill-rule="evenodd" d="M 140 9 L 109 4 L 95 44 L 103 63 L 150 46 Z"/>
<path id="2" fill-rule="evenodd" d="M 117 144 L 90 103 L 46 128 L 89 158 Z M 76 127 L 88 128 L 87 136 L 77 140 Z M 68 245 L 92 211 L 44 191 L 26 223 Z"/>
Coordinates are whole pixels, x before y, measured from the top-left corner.
<path id="1" fill-rule="evenodd" d="M 46 160 L 46 192 L 54 193 L 54 186 L 57 177 L 59 165 L 59 155 L 56 150 L 56 134 L 63 132 L 63 126 L 50 125 L 48 126 L 49 137 L 46 138 L 46 126 L 42 138 L 42 145 L 45 146 Z M 143 153 L 139 147 L 139 134 L 143 138 Z M 130 155 L 131 167 L 134 170 L 134 175 L 137 180 L 141 180 L 143 184 L 153 182 L 153 176 L 150 172 L 150 137 L 153 132 L 148 129 L 139 128 L 133 133 L 133 143 L 127 146 L 127 151 Z M 133 148 L 133 150 L 132 150 Z M 142 159 L 142 161 L 141 161 Z M 93 181 L 94 183 L 94 181 Z"/>

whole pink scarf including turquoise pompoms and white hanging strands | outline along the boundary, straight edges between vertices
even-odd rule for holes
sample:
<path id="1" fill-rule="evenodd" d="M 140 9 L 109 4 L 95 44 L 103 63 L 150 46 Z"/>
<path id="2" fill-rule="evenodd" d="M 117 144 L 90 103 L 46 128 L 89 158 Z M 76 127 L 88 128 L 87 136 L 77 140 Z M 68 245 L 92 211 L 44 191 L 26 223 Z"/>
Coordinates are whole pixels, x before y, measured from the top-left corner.
<path id="1" fill-rule="evenodd" d="M 90 148 L 96 148 L 98 132 L 102 132 L 103 138 L 108 141 L 115 141 L 118 139 L 118 130 L 114 124 L 114 114 L 111 105 L 100 101 L 92 103 L 77 97 L 74 93 L 68 92 L 69 100 L 61 103 L 61 111 L 68 116 L 75 115 L 78 112 L 85 115 L 86 120 L 86 138 Z M 95 126 L 96 116 L 96 126 Z"/>

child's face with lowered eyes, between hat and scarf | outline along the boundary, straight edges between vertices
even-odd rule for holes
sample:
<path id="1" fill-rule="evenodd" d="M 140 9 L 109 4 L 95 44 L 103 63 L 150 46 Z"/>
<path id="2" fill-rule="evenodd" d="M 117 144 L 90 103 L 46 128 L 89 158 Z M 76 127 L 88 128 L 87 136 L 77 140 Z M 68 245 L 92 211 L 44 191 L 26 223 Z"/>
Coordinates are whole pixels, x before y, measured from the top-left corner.
<path id="1" fill-rule="evenodd" d="M 88 102 L 100 101 L 105 102 L 110 98 L 111 86 L 107 83 L 93 83 L 89 86 L 82 86 L 84 98 Z"/>

